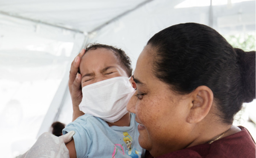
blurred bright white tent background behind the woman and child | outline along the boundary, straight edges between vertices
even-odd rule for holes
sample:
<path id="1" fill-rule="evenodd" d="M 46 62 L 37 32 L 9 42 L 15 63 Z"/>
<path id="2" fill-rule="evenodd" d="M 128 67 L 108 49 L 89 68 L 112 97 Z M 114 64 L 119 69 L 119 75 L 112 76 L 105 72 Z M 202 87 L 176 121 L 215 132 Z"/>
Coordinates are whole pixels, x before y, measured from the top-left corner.
<path id="1" fill-rule="evenodd" d="M 91 42 L 114 45 L 133 68 L 146 42 L 178 23 L 209 25 L 255 51 L 255 0 L 0 0 L 1 157 L 13 158 L 54 121 L 72 121 L 70 64 Z M 256 138 L 256 102 L 234 124 Z"/>

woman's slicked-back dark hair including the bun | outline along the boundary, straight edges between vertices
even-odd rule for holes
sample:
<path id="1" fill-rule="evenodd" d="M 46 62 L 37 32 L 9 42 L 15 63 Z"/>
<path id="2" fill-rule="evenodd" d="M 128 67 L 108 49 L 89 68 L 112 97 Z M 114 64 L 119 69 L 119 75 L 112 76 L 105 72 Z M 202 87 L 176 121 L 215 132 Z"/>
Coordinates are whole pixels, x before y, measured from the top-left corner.
<path id="1" fill-rule="evenodd" d="M 156 50 L 155 76 L 179 94 L 209 87 L 224 123 L 231 124 L 242 104 L 255 99 L 255 51 L 233 48 L 214 29 L 197 23 L 173 25 L 147 45 Z"/>

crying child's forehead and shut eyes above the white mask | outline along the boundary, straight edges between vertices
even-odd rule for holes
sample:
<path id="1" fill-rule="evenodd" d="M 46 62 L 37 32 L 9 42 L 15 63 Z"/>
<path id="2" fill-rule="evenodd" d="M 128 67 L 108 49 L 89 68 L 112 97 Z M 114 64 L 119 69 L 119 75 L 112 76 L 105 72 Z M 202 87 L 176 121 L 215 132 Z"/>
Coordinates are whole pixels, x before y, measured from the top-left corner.
<path id="1" fill-rule="evenodd" d="M 82 87 L 113 77 L 129 77 L 115 54 L 105 48 L 87 51 L 81 58 L 79 69 Z"/>

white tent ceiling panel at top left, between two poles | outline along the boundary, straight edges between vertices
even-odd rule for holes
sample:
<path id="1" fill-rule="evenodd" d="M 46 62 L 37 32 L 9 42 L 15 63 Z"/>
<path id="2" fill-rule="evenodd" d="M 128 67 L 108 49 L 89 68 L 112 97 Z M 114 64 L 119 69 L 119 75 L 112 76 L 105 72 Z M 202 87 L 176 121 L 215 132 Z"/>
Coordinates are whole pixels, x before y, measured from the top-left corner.
<path id="1" fill-rule="evenodd" d="M 90 32 L 145 0 L 0 0 L 0 11 Z"/>

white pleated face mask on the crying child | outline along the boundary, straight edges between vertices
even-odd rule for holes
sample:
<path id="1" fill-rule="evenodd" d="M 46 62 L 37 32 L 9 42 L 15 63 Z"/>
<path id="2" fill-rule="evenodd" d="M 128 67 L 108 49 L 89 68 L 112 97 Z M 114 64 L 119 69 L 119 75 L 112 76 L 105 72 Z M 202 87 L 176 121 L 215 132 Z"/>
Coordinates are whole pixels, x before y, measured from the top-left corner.
<path id="1" fill-rule="evenodd" d="M 79 109 L 85 114 L 116 122 L 128 111 L 126 105 L 135 93 L 128 77 L 114 77 L 82 88 Z"/>

